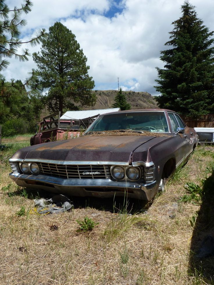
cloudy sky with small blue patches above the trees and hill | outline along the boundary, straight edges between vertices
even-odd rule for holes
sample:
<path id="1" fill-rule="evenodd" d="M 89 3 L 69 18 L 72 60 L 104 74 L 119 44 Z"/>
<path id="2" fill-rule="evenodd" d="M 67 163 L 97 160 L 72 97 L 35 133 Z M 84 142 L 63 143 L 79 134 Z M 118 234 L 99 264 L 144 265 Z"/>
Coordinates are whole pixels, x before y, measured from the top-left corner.
<path id="1" fill-rule="evenodd" d="M 18 3 L 17 3 L 18 2 Z M 22 14 L 27 25 L 21 29 L 20 39 L 26 41 L 36 31 L 60 21 L 76 35 L 83 53 L 88 58 L 89 75 L 94 90 L 132 90 L 159 95 L 154 88 L 156 67 L 163 68 L 160 51 L 172 31 L 172 21 L 181 17 L 183 0 L 32 0 L 29 14 Z M 6 0 L 9 8 L 19 7 L 22 0 Z M 214 31 L 213 0 L 190 0 L 204 24 Z M 40 45 L 28 48 L 40 51 Z M 6 80 L 24 82 L 32 68 L 32 56 L 27 62 L 9 59 L 3 72 Z"/>

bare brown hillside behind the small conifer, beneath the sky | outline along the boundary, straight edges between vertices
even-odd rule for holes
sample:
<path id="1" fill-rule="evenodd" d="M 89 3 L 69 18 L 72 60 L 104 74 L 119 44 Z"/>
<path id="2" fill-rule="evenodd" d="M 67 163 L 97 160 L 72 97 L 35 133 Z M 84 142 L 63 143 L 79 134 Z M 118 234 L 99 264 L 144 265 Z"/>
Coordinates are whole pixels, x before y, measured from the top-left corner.
<path id="1" fill-rule="evenodd" d="M 115 103 L 116 90 L 95 90 L 92 91 L 97 96 L 94 107 L 85 107 L 84 110 L 112 108 Z M 156 101 L 147 92 L 123 91 L 126 94 L 127 102 L 131 104 L 131 109 L 157 108 Z"/>

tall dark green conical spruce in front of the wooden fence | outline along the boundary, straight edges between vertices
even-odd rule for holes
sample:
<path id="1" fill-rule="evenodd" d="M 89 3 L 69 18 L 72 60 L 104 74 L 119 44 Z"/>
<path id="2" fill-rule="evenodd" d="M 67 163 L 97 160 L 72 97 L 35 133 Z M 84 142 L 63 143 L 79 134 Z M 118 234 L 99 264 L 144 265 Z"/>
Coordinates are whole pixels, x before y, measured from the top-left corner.
<path id="1" fill-rule="evenodd" d="M 208 114 L 214 111 L 214 32 L 203 25 L 189 1 L 184 1 L 181 12 L 165 43 L 171 48 L 161 51 L 165 66 L 157 67 L 159 86 L 155 88 L 162 95 L 156 101 L 159 107 L 181 114 Z"/>

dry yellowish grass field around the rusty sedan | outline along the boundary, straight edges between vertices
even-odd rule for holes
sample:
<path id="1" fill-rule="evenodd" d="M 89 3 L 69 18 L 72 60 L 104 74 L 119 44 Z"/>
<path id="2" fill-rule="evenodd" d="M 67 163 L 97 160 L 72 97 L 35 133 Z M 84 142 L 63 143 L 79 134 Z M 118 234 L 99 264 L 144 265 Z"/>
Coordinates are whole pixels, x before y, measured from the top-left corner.
<path id="1" fill-rule="evenodd" d="M 212 146 L 198 146 L 146 211 L 133 200 L 73 198 L 72 211 L 39 216 L 33 198 L 47 193 L 8 177 L 8 159 L 29 137 L 2 140 L 0 284 L 214 284 L 214 258 L 195 254 L 214 236 Z M 85 217 L 94 228 L 78 231 Z"/>

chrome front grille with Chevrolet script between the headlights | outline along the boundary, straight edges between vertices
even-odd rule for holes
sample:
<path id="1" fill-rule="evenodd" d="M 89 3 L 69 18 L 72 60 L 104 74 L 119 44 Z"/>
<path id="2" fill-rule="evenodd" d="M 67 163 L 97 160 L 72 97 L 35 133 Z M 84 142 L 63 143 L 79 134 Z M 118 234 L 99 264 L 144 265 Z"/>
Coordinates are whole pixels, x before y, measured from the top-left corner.
<path id="1" fill-rule="evenodd" d="M 39 163 L 40 174 L 65 179 L 108 179 L 110 169 L 106 165 L 61 165 Z"/>

